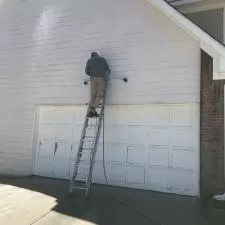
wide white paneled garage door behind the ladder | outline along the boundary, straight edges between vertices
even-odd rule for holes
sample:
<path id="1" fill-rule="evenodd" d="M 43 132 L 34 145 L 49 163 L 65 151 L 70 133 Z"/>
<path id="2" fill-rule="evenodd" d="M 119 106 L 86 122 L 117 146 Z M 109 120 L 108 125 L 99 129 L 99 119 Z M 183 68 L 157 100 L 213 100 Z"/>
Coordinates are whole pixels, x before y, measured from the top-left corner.
<path id="1" fill-rule="evenodd" d="M 36 175 L 71 177 L 85 111 L 40 109 Z M 105 163 L 111 185 L 197 195 L 199 105 L 107 106 Z M 105 183 L 102 138 L 93 181 Z"/>

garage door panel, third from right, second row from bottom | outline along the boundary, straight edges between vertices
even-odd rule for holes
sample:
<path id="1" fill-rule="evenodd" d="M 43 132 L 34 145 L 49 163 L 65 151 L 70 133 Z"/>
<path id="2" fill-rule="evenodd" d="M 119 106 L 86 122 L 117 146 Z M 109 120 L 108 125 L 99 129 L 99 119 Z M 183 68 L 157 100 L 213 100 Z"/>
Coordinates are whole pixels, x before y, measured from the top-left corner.
<path id="1" fill-rule="evenodd" d="M 148 160 L 148 149 L 143 146 L 128 146 L 127 162 L 134 164 L 146 164 Z"/>

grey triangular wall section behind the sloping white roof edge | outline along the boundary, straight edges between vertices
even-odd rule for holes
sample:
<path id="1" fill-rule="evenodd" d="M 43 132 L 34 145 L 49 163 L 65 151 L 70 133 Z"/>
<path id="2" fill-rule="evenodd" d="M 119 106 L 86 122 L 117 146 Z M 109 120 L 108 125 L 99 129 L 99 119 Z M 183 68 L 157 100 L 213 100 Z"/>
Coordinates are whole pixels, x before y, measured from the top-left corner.
<path id="1" fill-rule="evenodd" d="M 187 14 L 194 23 L 223 43 L 223 8 Z"/>

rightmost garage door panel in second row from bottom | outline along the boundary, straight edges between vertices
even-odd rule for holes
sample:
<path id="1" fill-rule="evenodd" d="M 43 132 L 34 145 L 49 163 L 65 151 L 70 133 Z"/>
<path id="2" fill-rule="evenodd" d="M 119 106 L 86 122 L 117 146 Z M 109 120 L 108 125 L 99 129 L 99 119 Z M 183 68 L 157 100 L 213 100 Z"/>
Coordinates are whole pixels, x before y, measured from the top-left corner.
<path id="1" fill-rule="evenodd" d="M 172 167 L 194 170 L 196 165 L 194 151 L 173 150 L 171 154 Z"/>

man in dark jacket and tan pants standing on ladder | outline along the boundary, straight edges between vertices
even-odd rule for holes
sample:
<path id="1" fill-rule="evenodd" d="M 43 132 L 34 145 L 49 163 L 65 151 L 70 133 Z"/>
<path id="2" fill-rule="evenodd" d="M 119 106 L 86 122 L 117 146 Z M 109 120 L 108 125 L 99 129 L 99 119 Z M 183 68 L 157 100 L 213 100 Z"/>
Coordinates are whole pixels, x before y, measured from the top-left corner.
<path id="1" fill-rule="evenodd" d="M 90 102 L 87 116 L 98 117 L 99 114 L 96 112 L 96 108 L 103 97 L 105 79 L 110 73 L 109 65 L 97 52 L 92 52 L 91 58 L 87 61 L 85 73 L 91 78 Z"/>

